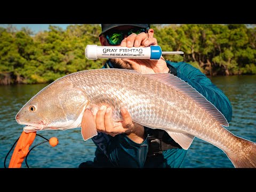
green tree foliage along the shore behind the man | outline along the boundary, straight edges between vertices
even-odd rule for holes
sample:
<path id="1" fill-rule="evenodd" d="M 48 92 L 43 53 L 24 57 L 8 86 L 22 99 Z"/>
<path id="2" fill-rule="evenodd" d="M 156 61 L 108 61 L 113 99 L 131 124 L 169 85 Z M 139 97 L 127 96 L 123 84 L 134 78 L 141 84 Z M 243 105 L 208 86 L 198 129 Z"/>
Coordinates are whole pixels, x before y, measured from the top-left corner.
<path id="1" fill-rule="evenodd" d="M 256 74 L 256 27 L 243 24 L 152 24 L 154 37 L 173 62 L 185 61 L 207 75 Z M 31 29 L 0 27 L 0 82 L 50 83 L 76 71 L 101 68 L 106 59 L 89 60 L 88 44 L 100 45 L 98 24 Z M 5 79 L 4 78 L 12 78 Z"/>

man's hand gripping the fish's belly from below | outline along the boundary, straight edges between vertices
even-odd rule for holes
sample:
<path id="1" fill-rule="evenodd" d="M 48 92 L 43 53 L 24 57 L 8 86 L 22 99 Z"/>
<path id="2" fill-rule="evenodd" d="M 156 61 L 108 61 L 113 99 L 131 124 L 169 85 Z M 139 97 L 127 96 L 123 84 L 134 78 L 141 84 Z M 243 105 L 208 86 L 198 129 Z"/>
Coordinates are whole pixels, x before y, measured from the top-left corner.
<path id="1" fill-rule="evenodd" d="M 125 108 L 121 109 L 123 121 L 119 122 L 113 121 L 112 109 L 110 107 L 93 107 L 91 110 L 98 132 L 106 133 L 113 137 L 117 134 L 125 133 L 127 137 L 136 143 L 144 141 L 144 126 L 134 123 L 129 111 Z"/>

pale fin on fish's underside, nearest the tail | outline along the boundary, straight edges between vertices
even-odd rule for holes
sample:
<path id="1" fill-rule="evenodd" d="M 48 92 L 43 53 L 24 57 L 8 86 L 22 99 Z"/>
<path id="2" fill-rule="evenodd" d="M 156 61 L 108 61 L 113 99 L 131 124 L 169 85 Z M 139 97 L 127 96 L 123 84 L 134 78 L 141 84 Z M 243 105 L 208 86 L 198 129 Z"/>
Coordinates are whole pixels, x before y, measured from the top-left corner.
<path id="1" fill-rule="evenodd" d="M 188 149 L 193 142 L 195 136 L 190 135 L 190 134 L 185 134 L 185 133 L 175 133 L 175 132 L 170 132 L 166 131 L 170 137 L 177 142 L 183 149 Z"/>

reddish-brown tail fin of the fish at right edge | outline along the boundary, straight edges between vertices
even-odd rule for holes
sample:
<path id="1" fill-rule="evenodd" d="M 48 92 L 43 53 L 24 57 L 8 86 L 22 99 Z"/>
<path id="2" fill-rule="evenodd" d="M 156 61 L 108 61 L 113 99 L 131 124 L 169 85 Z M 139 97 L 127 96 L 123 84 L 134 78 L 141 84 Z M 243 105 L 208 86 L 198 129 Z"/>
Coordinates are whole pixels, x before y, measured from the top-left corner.
<path id="1" fill-rule="evenodd" d="M 256 168 L 256 143 L 239 137 L 237 139 L 238 148 L 242 148 L 227 154 L 230 161 L 236 168 Z"/>

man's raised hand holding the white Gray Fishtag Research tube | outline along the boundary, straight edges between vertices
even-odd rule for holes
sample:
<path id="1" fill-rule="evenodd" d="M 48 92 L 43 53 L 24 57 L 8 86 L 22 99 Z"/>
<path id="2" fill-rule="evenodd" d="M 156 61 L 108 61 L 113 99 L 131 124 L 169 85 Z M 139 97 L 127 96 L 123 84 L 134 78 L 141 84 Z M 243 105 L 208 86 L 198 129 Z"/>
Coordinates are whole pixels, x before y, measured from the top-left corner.
<path id="1" fill-rule="evenodd" d="M 150 45 L 157 45 L 156 38 L 153 37 L 154 30 L 150 29 L 148 34 L 140 33 L 138 35 L 131 34 L 127 38 L 124 38 L 121 46 L 126 47 L 144 47 Z M 124 62 L 129 64 L 132 69 L 140 71 L 143 74 L 148 73 L 168 73 L 169 68 L 166 65 L 163 56 L 159 60 L 149 59 L 122 59 Z"/>

